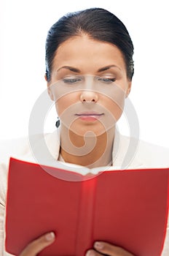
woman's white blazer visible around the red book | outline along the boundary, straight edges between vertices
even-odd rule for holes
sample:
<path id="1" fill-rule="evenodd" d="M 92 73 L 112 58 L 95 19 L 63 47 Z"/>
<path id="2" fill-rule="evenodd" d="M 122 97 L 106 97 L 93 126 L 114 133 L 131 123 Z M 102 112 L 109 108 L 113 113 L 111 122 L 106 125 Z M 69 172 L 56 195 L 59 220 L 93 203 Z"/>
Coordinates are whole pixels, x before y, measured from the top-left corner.
<path id="1" fill-rule="evenodd" d="M 85 167 L 57 161 L 60 151 L 60 129 L 47 135 L 33 135 L 29 138 L 1 141 L 0 144 L 0 255 L 7 256 L 4 250 L 5 202 L 7 194 L 7 173 L 9 157 L 38 162 L 44 165 L 63 167 L 80 171 Z M 135 138 L 119 135 L 116 131 L 112 152 L 112 169 L 169 167 L 169 149 L 155 146 Z M 87 169 L 87 168 L 86 168 Z M 103 170 L 105 167 L 99 167 Z M 169 222 L 168 222 L 169 224 Z M 169 225 L 165 237 L 162 256 L 169 255 Z"/>

